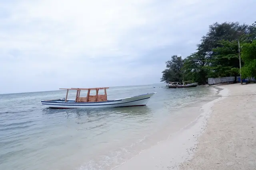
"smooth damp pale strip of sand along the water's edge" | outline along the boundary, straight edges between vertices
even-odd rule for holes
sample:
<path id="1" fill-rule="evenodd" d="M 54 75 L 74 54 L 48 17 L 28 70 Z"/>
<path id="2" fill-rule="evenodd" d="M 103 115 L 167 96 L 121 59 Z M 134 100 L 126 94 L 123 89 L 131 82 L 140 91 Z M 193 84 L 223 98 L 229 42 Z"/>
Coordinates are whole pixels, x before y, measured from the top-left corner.
<path id="1" fill-rule="evenodd" d="M 229 90 L 215 87 L 219 98 L 202 105 L 199 116 L 185 127 L 168 136 L 168 139 L 158 142 L 157 145 L 146 149 L 132 159 L 124 162 L 112 170 L 155 170 L 177 169 L 179 164 L 192 158 L 192 154 L 198 144 L 197 138 L 204 132 L 207 119 L 212 112 L 211 107 L 216 102 L 228 96 Z"/>

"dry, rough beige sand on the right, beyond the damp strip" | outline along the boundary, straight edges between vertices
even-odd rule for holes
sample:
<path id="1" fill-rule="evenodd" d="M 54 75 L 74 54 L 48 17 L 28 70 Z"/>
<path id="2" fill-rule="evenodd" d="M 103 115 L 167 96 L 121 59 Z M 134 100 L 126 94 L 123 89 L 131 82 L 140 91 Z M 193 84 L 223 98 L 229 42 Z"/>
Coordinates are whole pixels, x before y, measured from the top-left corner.
<path id="1" fill-rule="evenodd" d="M 256 84 L 219 87 L 230 96 L 212 107 L 196 154 L 181 170 L 256 170 Z"/>

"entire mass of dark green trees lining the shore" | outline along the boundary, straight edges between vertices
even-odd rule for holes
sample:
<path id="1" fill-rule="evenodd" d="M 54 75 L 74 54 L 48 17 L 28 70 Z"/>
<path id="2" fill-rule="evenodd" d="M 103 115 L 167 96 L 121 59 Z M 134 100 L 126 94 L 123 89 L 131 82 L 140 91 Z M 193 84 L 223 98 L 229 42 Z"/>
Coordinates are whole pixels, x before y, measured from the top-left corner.
<path id="1" fill-rule="evenodd" d="M 256 22 L 214 23 L 201 39 L 198 49 L 184 60 L 172 56 L 166 62 L 161 81 L 192 80 L 206 84 L 209 77 L 240 75 L 238 41 L 242 59 L 242 78 L 256 76 Z"/>

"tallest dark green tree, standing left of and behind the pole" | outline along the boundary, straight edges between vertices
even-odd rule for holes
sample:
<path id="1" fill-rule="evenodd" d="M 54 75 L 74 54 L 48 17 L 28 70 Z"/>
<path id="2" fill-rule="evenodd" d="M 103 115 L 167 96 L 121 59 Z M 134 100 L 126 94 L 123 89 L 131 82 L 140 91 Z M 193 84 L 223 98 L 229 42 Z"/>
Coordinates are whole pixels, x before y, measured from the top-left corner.
<path id="1" fill-rule="evenodd" d="M 208 77 L 236 76 L 239 73 L 238 40 L 240 43 L 256 39 L 256 25 L 238 22 L 214 23 L 202 37 L 198 52 L 205 53 Z"/>

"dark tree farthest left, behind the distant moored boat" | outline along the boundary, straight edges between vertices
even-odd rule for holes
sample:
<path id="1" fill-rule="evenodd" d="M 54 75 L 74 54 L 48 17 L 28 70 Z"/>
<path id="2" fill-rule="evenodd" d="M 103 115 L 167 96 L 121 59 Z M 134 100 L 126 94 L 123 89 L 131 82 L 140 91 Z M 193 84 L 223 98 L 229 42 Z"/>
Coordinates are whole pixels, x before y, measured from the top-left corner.
<path id="1" fill-rule="evenodd" d="M 168 60 L 166 63 L 166 69 L 162 71 L 161 82 L 178 82 L 182 80 L 182 66 L 183 60 L 177 55 L 173 55 L 171 60 Z"/>

